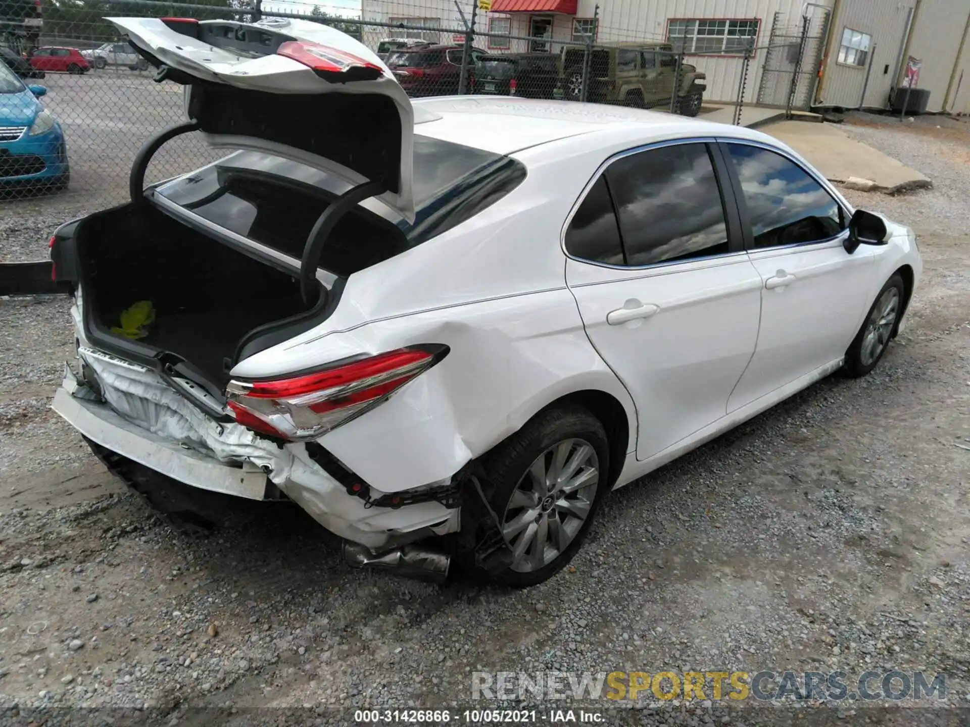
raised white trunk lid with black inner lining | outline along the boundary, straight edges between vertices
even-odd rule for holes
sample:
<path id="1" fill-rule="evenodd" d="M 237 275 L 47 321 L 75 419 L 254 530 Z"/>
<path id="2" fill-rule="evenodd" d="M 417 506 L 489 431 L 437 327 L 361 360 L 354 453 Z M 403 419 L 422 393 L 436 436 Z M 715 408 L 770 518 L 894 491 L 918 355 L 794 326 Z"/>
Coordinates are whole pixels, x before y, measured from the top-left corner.
<path id="1" fill-rule="evenodd" d="M 308 20 L 254 23 L 108 18 L 159 69 L 187 86 L 189 116 L 215 147 L 255 149 L 324 170 L 414 220 L 414 111 L 372 50 Z"/>

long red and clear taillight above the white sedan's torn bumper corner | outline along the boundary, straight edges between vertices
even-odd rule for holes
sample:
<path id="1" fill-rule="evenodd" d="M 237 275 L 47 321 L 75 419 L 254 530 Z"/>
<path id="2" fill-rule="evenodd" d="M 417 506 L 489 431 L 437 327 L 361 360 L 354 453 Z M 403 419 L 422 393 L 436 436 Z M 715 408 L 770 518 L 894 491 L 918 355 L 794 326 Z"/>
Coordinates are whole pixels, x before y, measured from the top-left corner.
<path id="1" fill-rule="evenodd" d="M 230 411 L 243 427 L 288 439 L 316 439 L 385 401 L 440 361 L 444 346 L 416 346 L 264 381 L 233 380 Z"/>

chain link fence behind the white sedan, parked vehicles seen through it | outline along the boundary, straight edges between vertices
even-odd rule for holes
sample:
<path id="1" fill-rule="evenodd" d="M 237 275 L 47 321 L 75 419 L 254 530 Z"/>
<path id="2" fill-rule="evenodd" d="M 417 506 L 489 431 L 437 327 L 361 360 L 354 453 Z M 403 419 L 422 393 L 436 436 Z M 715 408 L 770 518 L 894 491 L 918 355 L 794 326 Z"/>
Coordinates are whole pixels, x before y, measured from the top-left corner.
<path id="1" fill-rule="evenodd" d="M 16 1 L 0 0 L 0 6 Z M 502 95 L 687 116 L 727 108 L 734 123 L 740 123 L 744 104 L 758 95 L 754 61 L 768 51 L 755 47 L 755 36 L 744 28 L 730 39 L 730 47 L 725 40 L 708 48 L 694 36 L 689 43 L 687 31 L 674 35 L 673 26 L 671 38 L 649 37 L 600 27 L 597 17 L 574 22 L 564 36 L 551 24 L 523 27 L 498 17 L 485 22 L 469 0 L 454 3 L 450 16 L 380 0 L 393 4 L 380 19 L 295 3 L 263 8 L 259 0 L 255 5 L 242 0 L 37 1 L 43 23 L 0 24 L 0 58 L 6 62 L 0 66 L 0 91 L 18 92 L 24 109 L 18 118 L 0 118 L 0 204 L 5 206 L 43 198 L 55 201 L 53 209 L 60 199 L 93 210 L 123 202 L 138 149 L 155 132 L 184 120 L 182 87 L 155 82 L 154 69 L 118 37 L 106 16 L 304 18 L 371 47 L 415 98 Z M 525 34 L 517 34 L 520 29 Z M 41 107 L 44 111 L 36 112 Z M 197 134 L 178 137 L 152 158 L 146 182 L 187 173 L 224 153 L 210 149 Z"/>

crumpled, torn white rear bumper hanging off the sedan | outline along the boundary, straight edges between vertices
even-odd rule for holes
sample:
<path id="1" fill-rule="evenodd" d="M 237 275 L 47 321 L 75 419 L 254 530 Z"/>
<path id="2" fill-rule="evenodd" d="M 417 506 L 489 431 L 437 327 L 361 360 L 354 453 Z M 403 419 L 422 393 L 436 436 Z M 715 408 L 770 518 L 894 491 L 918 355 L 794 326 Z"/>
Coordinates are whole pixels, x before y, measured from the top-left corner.
<path id="1" fill-rule="evenodd" d="M 429 501 L 397 509 L 353 496 L 307 454 L 237 424 L 217 423 L 143 366 L 81 350 L 107 402 L 70 367 L 53 409 L 81 434 L 178 482 L 264 499 L 269 483 L 324 527 L 372 550 L 458 529 L 459 511 Z M 124 416 L 122 416 L 124 414 Z"/>

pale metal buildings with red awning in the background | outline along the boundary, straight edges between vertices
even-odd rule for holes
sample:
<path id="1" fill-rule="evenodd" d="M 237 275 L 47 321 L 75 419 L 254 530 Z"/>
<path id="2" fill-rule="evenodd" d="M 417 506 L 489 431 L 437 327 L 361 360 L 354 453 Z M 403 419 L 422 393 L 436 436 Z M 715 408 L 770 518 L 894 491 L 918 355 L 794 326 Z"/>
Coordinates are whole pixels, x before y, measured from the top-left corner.
<path id="1" fill-rule="evenodd" d="M 476 1 L 459 0 L 466 17 Z M 806 102 L 885 108 L 890 89 L 901 82 L 906 58 L 913 55 L 922 61 L 918 85 L 929 90 L 928 111 L 970 112 L 970 0 L 492 0 L 489 13 L 478 13 L 475 28 L 493 35 L 476 38 L 475 46 L 495 52 L 558 52 L 563 44 L 581 43 L 590 34 L 598 43 L 667 41 L 683 47 L 687 62 L 707 74 L 706 99 L 734 101 L 743 48 L 754 42 L 745 101 L 775 104 L 787 93 L 765 94 L 762 85 L 787 82 L 787 72 L 772 72 L 770 64 L 785 54 L 797 56 L 792 29 L 800 26 L 802 16 L 810 17 L 811 33 L 819 34 L 817 47 L 804 48 L 801 56 L 802 73 L 814 86 Z M 463 26 L 454 0 L 362 0 L 362 17 L 423 27 Z M 780 39 L 779 24 L 788 31 Z M 501 38 L 504 33 L 513 38 Z M 365 40 L 373 39 L 374 45 L 378 36 L 415 34 L 371 28 Z M 425 35 L 442 43 L 459 40 Z M 784 53 L 777 48 L 769 52 L 769 42 L 784 44 Z"/>

